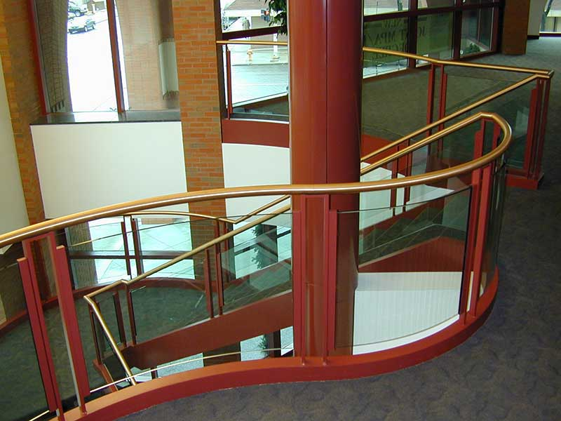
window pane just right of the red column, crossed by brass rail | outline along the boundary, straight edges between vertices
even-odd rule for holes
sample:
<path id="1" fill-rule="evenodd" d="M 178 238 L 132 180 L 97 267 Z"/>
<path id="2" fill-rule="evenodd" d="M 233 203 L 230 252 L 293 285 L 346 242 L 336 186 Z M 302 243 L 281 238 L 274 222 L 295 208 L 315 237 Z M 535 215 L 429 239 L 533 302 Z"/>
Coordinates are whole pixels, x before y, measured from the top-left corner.
<path id="1" fill-rule="evenodd" d="M 407 51 L 407 18 L 365 22 L 365 47 Z M 407 67 L 407 59 L 392 55 L 364 53 L 363 76 L 376 76 Z"/>

